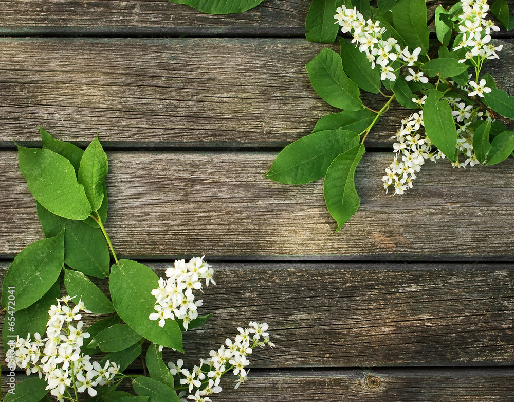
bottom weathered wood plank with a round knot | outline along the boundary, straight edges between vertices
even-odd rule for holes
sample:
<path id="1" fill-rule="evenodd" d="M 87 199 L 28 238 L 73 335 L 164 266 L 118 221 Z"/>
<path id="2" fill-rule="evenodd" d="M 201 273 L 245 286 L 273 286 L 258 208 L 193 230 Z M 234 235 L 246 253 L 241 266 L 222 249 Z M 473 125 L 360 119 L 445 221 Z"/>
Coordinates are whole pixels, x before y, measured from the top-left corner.
<path id="1" fill-rule="evenodd" d="M 222 393 L 211 398 L 214 402 L 484 402 L 510 400 L 513 376 L 512 369 L 251 370 L 237 390 L 230 377 L 224 378 Z M 16 375 L 16 381 L 25 378 L 24 373 Z M 132 391 L 128 382 L 118 389 Z"/>

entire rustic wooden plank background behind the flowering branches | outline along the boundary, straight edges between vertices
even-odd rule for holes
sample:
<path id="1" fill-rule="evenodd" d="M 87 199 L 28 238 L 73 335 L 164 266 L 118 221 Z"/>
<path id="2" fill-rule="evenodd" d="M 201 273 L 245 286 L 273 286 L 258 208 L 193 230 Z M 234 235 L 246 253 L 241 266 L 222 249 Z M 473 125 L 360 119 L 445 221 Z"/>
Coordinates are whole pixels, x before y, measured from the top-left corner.
<path id="1" fill-rule="evenodd" d="M 263 177 L 336 111 L 304 68 L 323 47 L 304 39 L 309 4 L 213 16 L 154 0 L 2 0 L 2 276 L 43 237 L 12 139 L 40 145 L 39 125 L 80 146 L 99 133 L 120 256 L 158 274 L 177 257 L 215 267 L 202 310 L 214 317 L 185 335 L 187 362 L 250 320 L 270 324 L 277 347 L 214 401 L 514 400 L 512 159 L 427 163 L 407 195 L 386 195 L 389 136 L 409 113 L 396 108 L 366 141 L 361 208 L 336 235 L 321 181 Z M 427 4 L 432 15 L 439 2 Z M 489 71 L 512 95 L 514 40 L 498 41 Z"/>

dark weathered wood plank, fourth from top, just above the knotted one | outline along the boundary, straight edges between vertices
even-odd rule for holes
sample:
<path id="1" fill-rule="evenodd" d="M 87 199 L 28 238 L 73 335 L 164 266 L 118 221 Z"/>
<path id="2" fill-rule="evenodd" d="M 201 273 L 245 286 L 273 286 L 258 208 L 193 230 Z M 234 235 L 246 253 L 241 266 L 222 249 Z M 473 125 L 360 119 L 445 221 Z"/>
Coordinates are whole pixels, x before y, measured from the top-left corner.
<path id="1" fill-rule="evenodd" d="M 212 264 L 216 285 L 199 298 L 214 316 L 184 334 L 185 356 L 166 349 L 166 361 L 197 364 L 249 321 L 267 322 L 276 344 L 254 351 L 253 368 L 514 361 L 507 264 Z M 170 264 L 149 265 L 164 276 Z"/>

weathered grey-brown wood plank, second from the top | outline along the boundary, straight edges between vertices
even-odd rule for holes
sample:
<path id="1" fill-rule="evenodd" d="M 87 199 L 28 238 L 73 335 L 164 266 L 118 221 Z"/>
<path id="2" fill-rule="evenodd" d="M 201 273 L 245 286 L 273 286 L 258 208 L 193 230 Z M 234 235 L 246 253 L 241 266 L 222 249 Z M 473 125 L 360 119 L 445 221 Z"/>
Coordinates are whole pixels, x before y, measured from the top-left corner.
<path id="1" fill-rule="evenodd" d="M 141 2 L 146 3 L 146 2 Z M 0 39 L 0 146 L 37 144 L 37 127 L 107 147 L 283 147 L 337 112 L 304 65 L 304 39 Z M 511 91 L 512 41 L 490 72 Z M 362 94 L 373 109 L 381 96 Z M 392 108 L 366 140 L 390 147 L 411 111 Z"/>

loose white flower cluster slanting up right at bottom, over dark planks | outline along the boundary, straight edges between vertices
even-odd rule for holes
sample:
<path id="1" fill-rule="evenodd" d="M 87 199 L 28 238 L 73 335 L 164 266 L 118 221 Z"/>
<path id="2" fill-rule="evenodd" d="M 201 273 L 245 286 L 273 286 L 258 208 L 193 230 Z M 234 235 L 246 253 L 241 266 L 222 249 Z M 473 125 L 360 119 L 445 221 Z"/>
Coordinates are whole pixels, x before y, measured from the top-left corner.
<path id="1" fill-rule="evenodd" d="M 227 338 L 224 345 L 221 345 L 217 351 L 210 351 L 210 357 L 207 360 L 201 359 L 200 365 L 194 366 L 191 371 L 182 368 L 182 359 L 179 359 L 177 364 L 168 363 L 171 374 L 177 375 L 180 384 L 188 388 L 190 395 L 187 399 L 194 402 L 210 402 L 208 395 L 222 391 L 219 380 L 230 370 L 238 377 L 235 381 L 235 389 L 237 389 L 247 379 L 249 372 L 247 366 L 250 364 L 247 356 L 252 353 L 253 348 L 265 345 L 275 346 L 269 340 L 266 323 L 258 324 L 250 321 L 249 328 L 240 327 L 237 330 L 239 334 L 234 341 Z M 182 397 L 185 394 L 186 392 L 182 392 L 179 396 Z M 188 402 L 187 399 L 181 399 L 181 401 Z"/>

